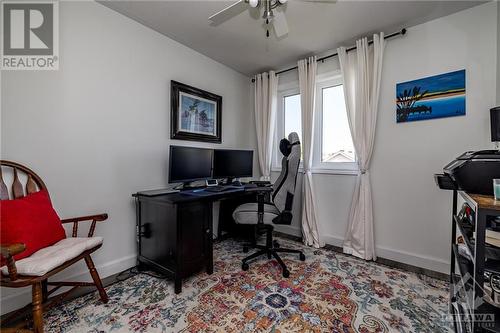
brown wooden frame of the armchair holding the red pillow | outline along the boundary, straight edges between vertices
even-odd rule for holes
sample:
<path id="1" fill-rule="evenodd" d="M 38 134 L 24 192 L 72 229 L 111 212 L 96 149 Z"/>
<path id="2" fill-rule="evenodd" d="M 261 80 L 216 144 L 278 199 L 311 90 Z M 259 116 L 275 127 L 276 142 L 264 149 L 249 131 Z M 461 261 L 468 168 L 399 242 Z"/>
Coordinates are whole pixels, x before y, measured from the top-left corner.
<path id="1" fill-rule="evenodd" d="M 29 168 L 15 162 L 0 160 L 0 200 L 9 200 L 9 191 L 2 177 L 2 167 L 12 169 L 12 175 L 13 175 L 12 197 L 14 199 L 22 198 L 25 196 L 23 185 L 21 184 L 21 181 L 18 177 L 18 173 L 24 173 L 27 177 L 26 185 L 24 186 L 26 188 L 27 194 L 47 189 L 42 179 Z M 80 243 L 79 249 L 83 248 L 83 252 L 80 252 L 79 254 L 75 255 L 75 251 L 65 251 L 65 253 L 72 252 L 73 255 L 69 254 L 70 257 L 65 258 L 66 261 L 64 263 L 56 267 L 50 267 L 47 273 L 39 276 L 22 274 L 22 269 L 20 271 L 19 268 L 24 259 L 19 260 L 18 265 L 16 267 L 16 261 L 14 260 L 14 256 L 24 251 L 25 249 L 24 244 L 0 244 L 1 255 L 6 260 L 6 266 L 8 270 L 8 275 L 0 273 L 1 275 L 0 286 L 10 287 L 10 288 L 22 288 L 26 286 L 32 286 L 32 299 L 33 299 L 32 304 L 27 305 L 23 309 L 15 311 L 13 314 L 9 315 L 7 318 L 4 318 L 1 321 L 0 325 L 2 327 L 2 331 L 4 331 L 5 323 L 11 322 L 20 313 L 26 311 L 29 307 L 32 307 L 33 331 L 36 333 L 43 332 L 43 311 L 46 311 L 53 305 L 61 302 L 66 296 L 68 296 L 78 287 L 95 286 L 99 291 L 101 300 L 104 303 L 108 302 L 108 296 L 106 295 L 106 291 L 102 286 L 99 274 L 97 273 L 92 258 L 90 257 L 90 254 L 92 252 L 96 251 L 98 248 L 102 246 L 102 238 L 93 237 L 96 222 L 102 222 L 107 218 L 108 218 L 107 214 L 100 214 L 100 215 L 83 216 L 83 217 L 76 217 L 76 218 L 62 220 L 62 223 L 73 223 L 73 232 L 72 232 L 73 238 L 70 238 L 70 242 L 78 241 Z M 78 235 L 78 223 L 82 221 L 92 221 L 89 228 L 88 236 L 86 238 L 76 238 Z M 85 242 L 83 246 L 81 244 L 82 242 Z M 49 277 L 51 277 L 56 273 L 59 273 L 63 269 L 73 265 L 74 263 L 76 263 L 81 259 L 85 260 L 85 263 L 87 264 L 87 267 L 90 271 L 90 275 L 92 276 L 92 280 L 94 281 L 93 283 L 48 281 Z M 48 286 L 53 286 L 53 288 L 48 290 Z M 58 290 L 63 286 L 69 286 L 72 288 L 64 293 L 49 298 L 51 294 L 53 294 L 56 290 Z M 22 324 L 23 323 L 18 325 L 16 328 L 8 329 L 5 331 L 24 332 L 25 330 L 21 328 Z"/>

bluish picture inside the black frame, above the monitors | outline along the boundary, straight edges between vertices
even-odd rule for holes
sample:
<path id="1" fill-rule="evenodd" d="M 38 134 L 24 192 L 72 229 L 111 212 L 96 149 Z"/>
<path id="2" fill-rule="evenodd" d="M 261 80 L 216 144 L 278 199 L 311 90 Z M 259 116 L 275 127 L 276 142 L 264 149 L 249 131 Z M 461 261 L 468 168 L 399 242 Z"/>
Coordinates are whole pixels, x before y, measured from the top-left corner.
<path id="1" fill-rule="evenodd" d="M 180 131 L 216 135 L 216 102 L 180 92 L 179 115 Z"/>

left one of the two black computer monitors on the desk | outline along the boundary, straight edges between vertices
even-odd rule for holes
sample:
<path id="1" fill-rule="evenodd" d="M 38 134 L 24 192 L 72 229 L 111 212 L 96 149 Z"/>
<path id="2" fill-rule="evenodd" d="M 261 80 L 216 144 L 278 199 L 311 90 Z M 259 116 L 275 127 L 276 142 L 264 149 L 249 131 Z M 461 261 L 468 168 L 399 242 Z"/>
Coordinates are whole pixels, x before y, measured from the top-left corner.
<path id="1" fill-rule="evenodd" d="M 213 149 L 170 146 L 169 183 L 184 183 L 212 178 Z"/>

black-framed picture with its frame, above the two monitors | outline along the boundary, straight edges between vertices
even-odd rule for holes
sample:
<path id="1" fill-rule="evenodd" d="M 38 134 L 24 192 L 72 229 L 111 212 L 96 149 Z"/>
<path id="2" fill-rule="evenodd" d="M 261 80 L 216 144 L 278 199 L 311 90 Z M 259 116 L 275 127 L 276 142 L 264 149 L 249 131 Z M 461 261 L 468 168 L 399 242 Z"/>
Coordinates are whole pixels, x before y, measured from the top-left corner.
<path id="1" fill-rule="evenodd" d="M 221 143 L 222 97 L 171 81 L 170 138 Z"/>

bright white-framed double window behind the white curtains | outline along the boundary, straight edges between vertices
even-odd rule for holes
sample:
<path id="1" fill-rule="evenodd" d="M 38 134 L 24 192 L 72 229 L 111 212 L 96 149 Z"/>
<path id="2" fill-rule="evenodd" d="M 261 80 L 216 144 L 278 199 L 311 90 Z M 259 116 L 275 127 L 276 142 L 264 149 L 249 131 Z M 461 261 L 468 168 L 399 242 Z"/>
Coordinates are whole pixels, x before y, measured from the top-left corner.
<path id="1" fill-rule="evenodd" d="M 276 140 L 297 132 L 302 138 L 300 94 L 297 87 L 278 94 Z M 274 149 L 273 169 L 280 166 L 278 145 Z M 354 144 L 339 73 L 319 78 L 316 86 L 316 123 L 313 144 L 313 172 L 352 173 L 357 170 Z"/>

